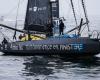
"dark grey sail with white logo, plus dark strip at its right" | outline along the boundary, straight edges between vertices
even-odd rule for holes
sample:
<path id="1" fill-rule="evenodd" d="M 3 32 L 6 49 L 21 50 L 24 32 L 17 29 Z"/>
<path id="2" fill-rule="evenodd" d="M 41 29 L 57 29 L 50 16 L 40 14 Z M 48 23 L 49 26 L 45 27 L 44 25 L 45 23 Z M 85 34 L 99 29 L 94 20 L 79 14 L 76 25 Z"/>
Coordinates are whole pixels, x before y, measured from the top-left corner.
<path id="1" fill-rule="evenodd" d="M 24 29 L 45 32 L 51 14 L 59 18 L 59 0 L 52 4 L 52 8 L 50 6 L 50 0 L 28 0 Z"/>

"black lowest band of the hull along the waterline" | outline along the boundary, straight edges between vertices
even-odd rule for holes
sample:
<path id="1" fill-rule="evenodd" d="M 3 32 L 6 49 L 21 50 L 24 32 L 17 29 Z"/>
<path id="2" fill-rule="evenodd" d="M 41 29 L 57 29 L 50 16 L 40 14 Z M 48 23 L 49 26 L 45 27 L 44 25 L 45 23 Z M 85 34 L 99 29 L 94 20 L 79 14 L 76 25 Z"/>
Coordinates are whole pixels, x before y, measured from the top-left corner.
<path id="1" fill-rule="evenodd" d="M 39 55 L 39 56 L 55 56 L 55 55 L 58 55 L 58 56 L 63 56 L 63 57 L 93 57 L 94 55 L 97 55 L 99 53 L 73 53 L 73 52 L 58 52 L 56 51 L 52 51 L 50 53 L 48 53 L 49 51 L 43 51 L 43 53 L 37 53 L 37 51 L 2 51 L 4 54 L 3 55 L 13 55 L 13 56 L 36 56 L 36 55 Z"/>

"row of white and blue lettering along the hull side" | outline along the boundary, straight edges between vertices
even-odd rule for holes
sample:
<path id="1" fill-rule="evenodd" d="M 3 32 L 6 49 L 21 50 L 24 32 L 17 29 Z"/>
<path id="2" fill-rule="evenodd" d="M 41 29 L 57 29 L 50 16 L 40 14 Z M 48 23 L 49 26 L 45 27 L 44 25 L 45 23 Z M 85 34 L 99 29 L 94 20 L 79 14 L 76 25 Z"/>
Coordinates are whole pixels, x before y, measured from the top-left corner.
<path id="1" fill-rule="evenodd" d="M 13 50 L 65 50 L 65 51 L 82 51 L 84 49 L 83 44 L 66 44 L 66 45 L 23 45 L 20 44 L 17 46 L 11 46 L 11 49 Z"/>

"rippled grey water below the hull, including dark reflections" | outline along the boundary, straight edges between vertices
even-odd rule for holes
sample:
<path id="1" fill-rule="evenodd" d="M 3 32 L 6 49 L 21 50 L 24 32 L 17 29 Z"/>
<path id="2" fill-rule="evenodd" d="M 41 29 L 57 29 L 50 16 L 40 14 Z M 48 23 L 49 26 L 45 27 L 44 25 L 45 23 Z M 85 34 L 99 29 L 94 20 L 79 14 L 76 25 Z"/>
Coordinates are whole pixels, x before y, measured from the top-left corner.
<path id="1" fill-rule="evenodd" d="M 100 80 L 100 57 L 0 56 L 0 80 Z"/>

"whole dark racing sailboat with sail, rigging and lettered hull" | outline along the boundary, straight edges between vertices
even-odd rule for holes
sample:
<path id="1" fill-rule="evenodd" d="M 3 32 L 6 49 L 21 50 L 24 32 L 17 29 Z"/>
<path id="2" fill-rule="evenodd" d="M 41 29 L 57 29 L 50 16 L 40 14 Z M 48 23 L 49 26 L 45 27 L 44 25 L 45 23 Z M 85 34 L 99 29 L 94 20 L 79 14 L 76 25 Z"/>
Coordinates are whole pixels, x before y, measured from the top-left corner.
<path id="1" fill-rule="evenodd" d="M 73 0 L 71 1 L 74 18 L 76 20 Z M 59 0 L 28 0 L 24 30 L 9 27 L 4 24 L 0 26 L 27 34 L 22 41 L 7 42 L 0 45 L 0 51 L 12 55 L 66 55 L 66 56 L 94 56 L 100 53 L 100 39 L 81 36 L 81 28 L 87 25 L 89 31 L 89 20 L 87 18 L 84 0 L 81 0 L 86 22 L 83 18 L 80 25 L 69 30 L 63 35 L 54 36 L 48 30 L 48 22 L 59 26 Z M 77 30 L 72 37 L 68 33 Z M 42 34 L 42 36 L 41 36 Z M 88 34 L 88 33 L 87 33 Z M 44 36 L 45 35 L 45 36 Z"/>

